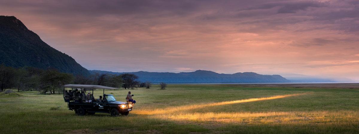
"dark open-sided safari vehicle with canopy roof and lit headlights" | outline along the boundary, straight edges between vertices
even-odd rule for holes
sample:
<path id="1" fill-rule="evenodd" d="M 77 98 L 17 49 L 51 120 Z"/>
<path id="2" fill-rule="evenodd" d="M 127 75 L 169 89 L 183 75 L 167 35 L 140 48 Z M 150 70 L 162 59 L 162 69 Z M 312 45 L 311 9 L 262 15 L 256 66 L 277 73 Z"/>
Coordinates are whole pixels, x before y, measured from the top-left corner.
<path id="1" fill-rule="evenodd" d="M 71 92 L 70 89 L 71 88 Z M 69 91 L 65 90 L 69 89 Z M 77 93 L 75 91 L 78 89 Z M 93 93 L 94 89 L 103 89 L 103 101 L 94 99 L 93 94 L 90 95 L 91 100 L 88 100 L 86 95 L 87 91 Z M 64 85 L 64 100 L 67 102 L 67 108 L 74 110 L 75 114 L 80 116 L 95 113 L 109 113 L 111 116 L 128 115 L 132 110 L 133 104 L 131 102 L 117 101 L 111 94 L 105 94 L 105 89 L 118 89 L 101 85 L 77 85 L 69 84 Z M 80 95 L 81 94 L 81 95 Z M 98 95 L 99 96 L 99 95 Z"/>

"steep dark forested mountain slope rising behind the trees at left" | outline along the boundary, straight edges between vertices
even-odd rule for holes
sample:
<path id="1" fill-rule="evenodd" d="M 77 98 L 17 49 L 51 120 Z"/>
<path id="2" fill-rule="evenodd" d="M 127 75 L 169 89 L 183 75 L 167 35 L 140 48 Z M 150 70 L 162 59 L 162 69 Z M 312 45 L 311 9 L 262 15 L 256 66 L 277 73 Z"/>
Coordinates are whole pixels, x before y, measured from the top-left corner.
<path id="1" fill-rule="evenodd" d="M 14 16 L 0 16 L 0 64 L 40 69 L 55 68 L 74 75 L 90 74 L 69 55 L 43 42 Z"/>

